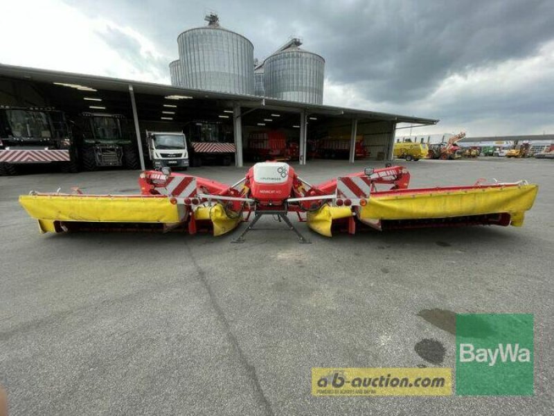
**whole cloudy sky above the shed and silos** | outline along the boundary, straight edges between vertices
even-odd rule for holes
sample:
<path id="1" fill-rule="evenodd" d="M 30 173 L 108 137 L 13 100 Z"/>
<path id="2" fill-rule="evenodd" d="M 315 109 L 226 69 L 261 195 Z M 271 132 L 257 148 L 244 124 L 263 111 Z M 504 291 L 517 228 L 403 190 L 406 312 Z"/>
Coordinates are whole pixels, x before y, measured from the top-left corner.
<path id="1" fill-rule="evenodd" d="M 0 63 L 169 83 L 204 25 L 265 58 L 289 37 L 325 58 L 325 104 L 427 116 L 418 135 L 554 133 L 553 0 L 0 0 Z"/>

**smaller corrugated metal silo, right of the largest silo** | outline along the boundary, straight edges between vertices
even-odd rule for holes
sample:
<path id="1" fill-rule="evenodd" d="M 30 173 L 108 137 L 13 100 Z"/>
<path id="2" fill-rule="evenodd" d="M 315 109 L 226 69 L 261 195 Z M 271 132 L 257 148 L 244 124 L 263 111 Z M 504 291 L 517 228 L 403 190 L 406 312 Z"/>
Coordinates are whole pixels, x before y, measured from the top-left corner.
<path id="1" fill-rule="evenodd" d="M 301 103 L 323 103 L 325 60 L 305 51 L 300 40 L 265 60 L 265 95 Z"/>

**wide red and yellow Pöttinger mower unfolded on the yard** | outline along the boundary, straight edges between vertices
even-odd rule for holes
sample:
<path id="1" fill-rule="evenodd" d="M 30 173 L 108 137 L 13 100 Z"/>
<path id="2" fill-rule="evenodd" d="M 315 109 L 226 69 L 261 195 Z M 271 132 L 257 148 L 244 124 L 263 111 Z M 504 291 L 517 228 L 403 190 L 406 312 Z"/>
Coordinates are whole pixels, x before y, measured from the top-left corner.
<path id="1" fill-rule="evenodd" d="M 468 225 L 521 226 L 537 196 L 536 184 L 526 181 L 471 186 L 409 188 L 404 166 L 366 168 L 310 184 L 285 162 L 254 164 L 238 182 L 223 184 L 204 177 L 144 171 L 136 195 L 84 195 L 31 191 L 19 202 L 37 219 L 40 232 L 159 230 L 196 234 L 208 229 L 214 236 L 249 222 L 233 240 L 244 242 L 262 216 L 273 216 L 310 241 L 289 215 L 314 232 L 355 234 L 357 227 L 377 230 Z M 253 214 L 253 220 L 250 220 Z"/>

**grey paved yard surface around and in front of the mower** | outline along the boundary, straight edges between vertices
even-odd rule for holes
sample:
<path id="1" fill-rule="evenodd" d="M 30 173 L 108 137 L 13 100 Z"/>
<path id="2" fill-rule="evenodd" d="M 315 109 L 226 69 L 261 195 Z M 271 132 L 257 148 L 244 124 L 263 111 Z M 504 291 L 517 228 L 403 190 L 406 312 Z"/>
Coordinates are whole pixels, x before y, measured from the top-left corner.
<path id="1" fill-rule="evenodd" d="M 539 184 L 524 227 L 45 234 L 37 191 L 133 193 L 138 172 L 0 177 L 0 384 L 19 415 L 551 415 L 554 162 L 404 162 L 412 186 Z M 357 162 L 356 168 L 382 166 Z M 295 165 L 296 166 L 296 165 Z M 296 166 L 308 182 L 357 170 Z M 245 169 L 189 173 L 235 182 Z M 245 225 L 241 225 L 244 227 Z M 234 235 L 233 235 L 234 234 Z M 535 314 L 535 397 L 312 397 L 312 367 L 455 367 L 454 313 Z M 436 340 L 444 357 L 415 345 Z"/>

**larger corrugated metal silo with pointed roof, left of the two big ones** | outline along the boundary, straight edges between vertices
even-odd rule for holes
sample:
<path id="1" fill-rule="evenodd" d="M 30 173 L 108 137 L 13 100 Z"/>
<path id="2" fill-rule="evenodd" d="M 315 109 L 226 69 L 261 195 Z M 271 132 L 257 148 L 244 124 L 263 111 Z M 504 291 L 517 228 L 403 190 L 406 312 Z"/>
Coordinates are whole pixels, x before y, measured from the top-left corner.
<path id="1" fill-rule="evenodd" d="M 183 87 L 254 94 L 254 46 L 246 37 L 222 28 L 215 14 L 208 26 L 177 37 Z"/>

